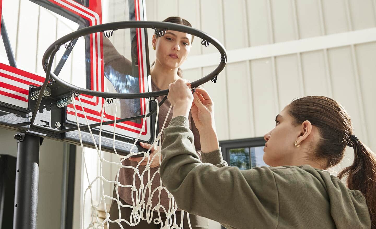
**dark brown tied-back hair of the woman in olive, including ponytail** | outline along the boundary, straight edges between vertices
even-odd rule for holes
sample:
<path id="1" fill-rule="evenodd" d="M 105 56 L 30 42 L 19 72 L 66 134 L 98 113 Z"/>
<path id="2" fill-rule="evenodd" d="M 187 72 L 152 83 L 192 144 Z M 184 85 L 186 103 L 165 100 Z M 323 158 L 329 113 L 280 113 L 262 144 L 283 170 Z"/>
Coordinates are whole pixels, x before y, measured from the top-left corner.
<path id="1" fill-rule="evenodd" d="M 318 128 L 320 140 L 314 154 L 327 161 L 324 167 L 338 164 L 346 145 L 353 147 L 354 162 L 338 173 L 338 178 L 347 176 L 347 187 L 363 193 L 370 212 L 371 228 L 376 229 L 376 158 L 367 146 L 352 137 L 354 129 L 349 114 L 338 102 L 324 96 L 296 99 L 288 109 L 297 125 L 308 120 Z"/>

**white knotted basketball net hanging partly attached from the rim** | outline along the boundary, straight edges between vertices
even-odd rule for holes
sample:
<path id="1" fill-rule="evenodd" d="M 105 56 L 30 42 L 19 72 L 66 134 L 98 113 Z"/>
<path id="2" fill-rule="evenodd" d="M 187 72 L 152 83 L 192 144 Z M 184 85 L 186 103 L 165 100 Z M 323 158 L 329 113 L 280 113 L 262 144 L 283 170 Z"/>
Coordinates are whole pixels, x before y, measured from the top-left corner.
<path id="1" fill-rule="evenodd" d="M 142 129 L 140 131 L 140 134 L 138 135 L 138 138 L 133 143 L 130 153 L 128 155 L 126 155 L 126 156 L 121 156 L 121 155 L 117 154 L 116 149 L 115 149 L 115 134 L 116 134 L 115 133 L 115 130 L 116 130 L 116 118 L 115 118 L 114 135 L 113 135 L 114 136 L 114 138 L 113 138 L 113 148 L 114 148 L 114 153 L 117 155 L 119 161 L 108 161 L 108 160 L 105 160 L 103 158 L 102 148 L 101 148 L 103 111 L 105 109 L 105 105 L 108 104 L 107 102 L 104 102 L 103 106 L 102 106 L 102 115 L 101 115 L 101 120 L 100 120 L 99 148 L 97 147 L 96 140 L 94 139 L 92 131 L 89 128 L 89 133 L 90 133 L 90 135 L 92 137 L 92 140 L 94 142 L 94 146 L 95 146 L 95 148 L 97 150 L 97 153 L 98 153 L 98 156 L 99 156 L 99 160 L 100 160 L 99 175 L 97 175 L 97 177 L 94 180 L 90 181 L 89 180 L 89 173 L 88 173 L 88 169 L 87 169 L 86 161 L 85 161 L 85 148 L 83 147 L 83 144 L 82 144 L 80 124 L 79 124 L 79 121 L 78 121 L 78 118 L 77 118 L 77 110 L 76 110 L 76 104 L 75 104 L 74 95 L 72 95 L 72 99 L 73 99 L 74 112 L 75 112 L 75 115 L 76 115 L 78 133 L 79 133 L 79 137 L 80 137 L 80 144 L 81 144 L 81 148 L 82 148 L 83 163 L 84 163 L 86 177 L 88 179 L 88 184 L 89 184 L 89 186 L 85 190 L 84 197 L 83 197 L 83 208 L 82 208 L 82 212 L 83 213 L 85 212 L 85 197 L 86 197 L 86 193 L 88 191 L 90 192 L 90 198 L 91 198 L 91 223 L 89 225 L 85 226 L 84 225 L 85 214 L 82 214 L 83 215 L 82 228 L 86 228 L 86 229 L 89 229 L 89 228 L 103 229 L 104 225 L 107 225 L 107 228 L 109 228 L 109 222 L 111 222 L 111 223 L 117 223 L 122 229 L 124 229 L 123 226 L 120 224 L 121 222 L 126 222 L 130 226 L 135 226 L 142 219 L 142 220 L 147 221 L 148 223 L 150 223 L 151 221 L 153 221 L 154 224 L 161 224 L 161 229 L 182 229 L 183 228 L 184 211 L 181 210 L 181 212 L 180 212 L 181 222 L 180 222 L 180 225 L 177 225 L 177 223 L 176 223 L 177 222 L 176 221 L 177 205 L 176 205 L 176 202 L 174 200 L 174 197 L 172 196 L 172 194 L 165 187 L 162 186 L 162 180 L 161 180 L 161 178 L 159 178 L 159 180 L 155 180 L 154 179 L 155 176 L 156 176 L 156 174 L 159 173 L 159 169 L 154 174 L 150 174 L 150 164 L 152 163 L 152 161 L 153 161 L 153 159 L 155 157 L 159 157 L 159 165 L 161 165 L 161 152 L 159 151 L 152 158 L 150 158 L 149 152 L 150 152 L 150 150 L 153 147 L 155 149 L 157 149 L 158 146 L 159 146 L 159 149 L 161 149 L 161 134 L 162 134 L 162 131 L 163 131 L 164 127 L 165 127 L 168 114 L 170 114 L 172 105 L 170 106 L 170 109 L 168 110 L 168 113 L 167 113 L 167 116 L 165 118 L 165 121 L 164 121 L 164 123 L 162 125 L 161 133 L 159 133 L 158 135 L 156 134 L 157 126 L 155 126 L 155 134 L 154 134 L 155 138 L 154 138 L 154 141 L 152 143 L 151 148 L 148 149 L 146 152 L 134 153 L 132 150 L 133 150 L 133 147 L 136 145 L 139 137 L 141 137 L 141 133 L 144 130 L 145 122 L 146 122 L 146 114 L 148 113 L 148 107 L 149 106 L 146 106 L 147 108 L 146 108 L 146 112 L 145 112 L 143 127 L 142 127 Z M 84 114 L 84 117 L 85 117 L 85 120 L 86 120 L 86 124 L 89 125 L 88 119 L 86 117 L 85 110 L 83 108 L 83 105 L 82 105 L 82 102 L 81 102 L 81 99 L 80 99 L 79 96 L 78 96 L 78 99 L 79 99 L 80 105 L 82 107 L 82 111 L 83 111 L 83 114 Z M 156 105 L 156 107 L 157 107 L 157 111 L 156 111 L 157 112 L 157 118 L 156 119 L 158 120 L 159 106 L 158 106 L 158 100 L 155 99 L 155 101 L 157 102 L 157 105 Z M 113 106 L 115 106 L 115 115 L 114 116 L 116 117 L 117 105 L 116 105 L 115 102 L 112 102 L 111 104 Z M 156 122 L 156 124 L 157 124 L 157 122 Z M 143 154 L 144 155 L 143 156 L 143 160 L 145 158 L 147 158 L 147 166 L 145 167 L 145 169 L 142 172 L 142 174 L 139 173 L 138 167 L 140 166 L 140 164 L 141 164 L 141 162 L 143 160 L 141 160 L 137 164 L 136 167 L 123 166 L 123 164 L 122 164 L 122 161 L 127 160 L 132 155 L 137 155 L 137 154 Z M 114 164 L 114 165 L 118 166 L 119 169 L 117 171 L 116 181 L 108 180 L 108 179 L 106 179 L 106 178 L 104 178 L 102 176 L 102 168 L 103 168 L 104 164 Z M 120 184 L 120 182 L 119 182 L 119 172 L 120 172 L 121 168 L 130 168 L 130 169 L 134 170 L 134 173 L 133 173 L 133 185 L 123 185 L 123 184 Z M 147 182 L 147 184 L 143 184 L 143 176 L 145 176 L 145 175 L 148 176 L 148 182 Z M 136 187 L 135 186 L 136 179 L 139 179 L 141 181 L 140 187 Z M 94 205 L 93 194 L 92 194 L 91 187 L 94 184 L 94 182 L 96 182 L 98 180 L 100 182 L 100 186 L 102 187 L 101 191 L 100 191 L 101 195 L 100 195 L 99 203 L 97 205 Z M 116 199 L 114 197 L 112 197 L 112 196 L 105 195 L 105 193 L 104 193 L 104 185 L 103 185 L 104 182 L 115 184 L 115 191 L 116 191 L 116 196 L 117 196 Z M 159 187 L 156 188 L 155 190 L 151 190 L 152 182 L 159 182 Z M 120 197 L 119 197 L 119 193 L 118 193 L 118 187 L 123 187 L 123 188 L 130 187 L 132 189 L 132 193 L 129 193 L 130 195 L 132 195 L 132 205 L 123 205 L 121 203 Z M 166 209 L 164 206 L 160 205 L 162 190 L 166 191 L 166 193 L 168 194 L 168 198 L 170 199 L 168 209 Z M 158 200 L 159 201 L 158 201 L 158 204 L 154 208 L 152 208 L 152 197 L 154 195 L 158 195 Z M 111 199 L 111 200 L 115 200 L 117 202 L 117 207 L 118 207 L 119 215 L 118 215 L 118 218 L 116 220 L 110 220 L 109 219 L 110 214 L 109 214 L 109 212 L 107 210 L 107 207 L 106 207 L 106 201 L 105 201 L 106 198 Z M 105 213 L 106 213 L 106 218 L 103 221 L 99 220 L 99 217 L 98 217 L 98 214 L 97 214 L 97 208 L 101 204 L 104 206 L 104 210 L 105 210 Z M 121 207 L 122 208 L 132 208 L 132 213 L 131 213 L 131 215 L 130 215 L 129 218 L 121 218 L 121 212 L 120 212 L 120 208 Z M 166 215 L 166 220 L 164 222 L 161 219 L 161 209 L 162 209 L 162 211 Z M 153 212 L 154 211 L 158 212 L 158 218 L 153 219 Z M 190 224 L 190 220 L 189 220 L 189 214 L 188 214 L 188 212 L 186 212 L 186 213 L 187 213 L 189 227 L 190 227 L 190 229 L 192 229 L 191 224 Z M 178 212 L 178 214 L 179 214 L 179 212 Z M 145 215 L 146 215 L 146 217 L 145 217 Z"/>

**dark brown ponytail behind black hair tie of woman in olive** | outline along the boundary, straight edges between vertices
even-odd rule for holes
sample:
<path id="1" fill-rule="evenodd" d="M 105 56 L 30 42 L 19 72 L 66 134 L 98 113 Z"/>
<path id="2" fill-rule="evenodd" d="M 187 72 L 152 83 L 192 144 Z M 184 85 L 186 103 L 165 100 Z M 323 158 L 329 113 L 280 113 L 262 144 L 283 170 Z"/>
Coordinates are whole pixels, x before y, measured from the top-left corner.
<path id="1" fill-rule="evenodd" d="M 371 218 L 371 229 L 376 229 L 376 158 L 373 152 L 361 141 L 353 145 L 354 162 L 338 173 L 338 178 L 347 176 L 347 187 L 359 190 L 365 197 Z"/>

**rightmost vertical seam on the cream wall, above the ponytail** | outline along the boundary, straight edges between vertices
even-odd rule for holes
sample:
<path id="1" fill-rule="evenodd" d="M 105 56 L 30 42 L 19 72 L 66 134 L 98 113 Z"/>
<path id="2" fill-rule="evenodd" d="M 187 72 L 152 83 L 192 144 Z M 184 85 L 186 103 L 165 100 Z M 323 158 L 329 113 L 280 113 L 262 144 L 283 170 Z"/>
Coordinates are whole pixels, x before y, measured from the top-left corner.
<path id="1" fill-rule="evenodd" d="M 353 30 L 353 25 L 352 25 L 352 18 L 351 18 L 351 11 L 350 11 L 350 6 L 349 6 L 349 0 L 345 0 L 345 5 L 346 5 L 346 15 L 347 15 L 347 22 L 348 22 L 348 28 L 350 31 Z M 358 63 L 356 61 L 356 50 L 355 50 L 355 45 L 352 44 L 350 45 L 351 49 L 351 60 L 352 60 L 352 65 L 354 69 L 354 81 L 355 81 L 355 90 L 356 90 L 356 96 L 358 99 L 358 105 L 359 105 L 359 110 L 360 110 L 360 121 L 362 124 L 362 130 L 363 130 L 363 136 L 364 136 L 364 142 L 368 143 L 368 130 L 367 130 L 367 124 L 365 123 L 365 110 L 364 110 L 364 99 L 362 96 L 362 90 L 361 90 L 361 85 L 360 85 L 360 76 L 359 76 L 359 68 L 358 68 Z"/>

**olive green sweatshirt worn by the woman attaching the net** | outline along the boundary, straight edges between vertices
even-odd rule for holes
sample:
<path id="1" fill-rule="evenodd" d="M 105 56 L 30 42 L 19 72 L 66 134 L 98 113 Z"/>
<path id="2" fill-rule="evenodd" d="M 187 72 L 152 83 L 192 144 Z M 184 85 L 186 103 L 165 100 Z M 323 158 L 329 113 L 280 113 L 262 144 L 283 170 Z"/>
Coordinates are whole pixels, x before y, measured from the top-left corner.
<path id="1" fill-rule="evenodd" d="M 180 209 L 229 229 L 371 228 L 363 194 L 326 170 L 309 165 L 240 170 L 220 149 L 191 149 L 188 119 L 177 116 L 163 132 L 161 178 Z"/>

